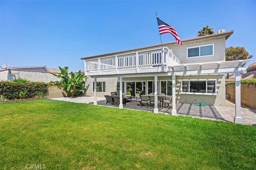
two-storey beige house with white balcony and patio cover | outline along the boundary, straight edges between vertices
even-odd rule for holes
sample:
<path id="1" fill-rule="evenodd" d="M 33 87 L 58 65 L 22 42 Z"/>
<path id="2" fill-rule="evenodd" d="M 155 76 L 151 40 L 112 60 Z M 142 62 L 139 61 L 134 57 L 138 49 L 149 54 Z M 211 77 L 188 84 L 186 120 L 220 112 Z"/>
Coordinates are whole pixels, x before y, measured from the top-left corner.
<path id="1" fill-rule="evenodd" d="M 81 58 L 88 76 L 86 94 L 95 96 L 97 104 L 96 96 L 119 90 L 124 96 L 153 92 L 155 102 L 157 93 L 164 93 L 173 98 L 172 115 L 176 115 L 176 102 L 193 104 L 196 100 L 196 103 L 225 106 L 225 74 L 235 73 L 236 81 L 240 81 L 240 73 L 246 69 L 241 65 L 249 61 L 225 61 L 225 43 L 232 33 L 184 39 L 182 45 L 164 43 L 163 49 L 158 44 Z M 236 89 L 240 98 L 240 84 Z M 242 122 L 239 101 L 236 100 L 237 123 Z M 158 113 L 157 106 L 154 113 Z"/>

